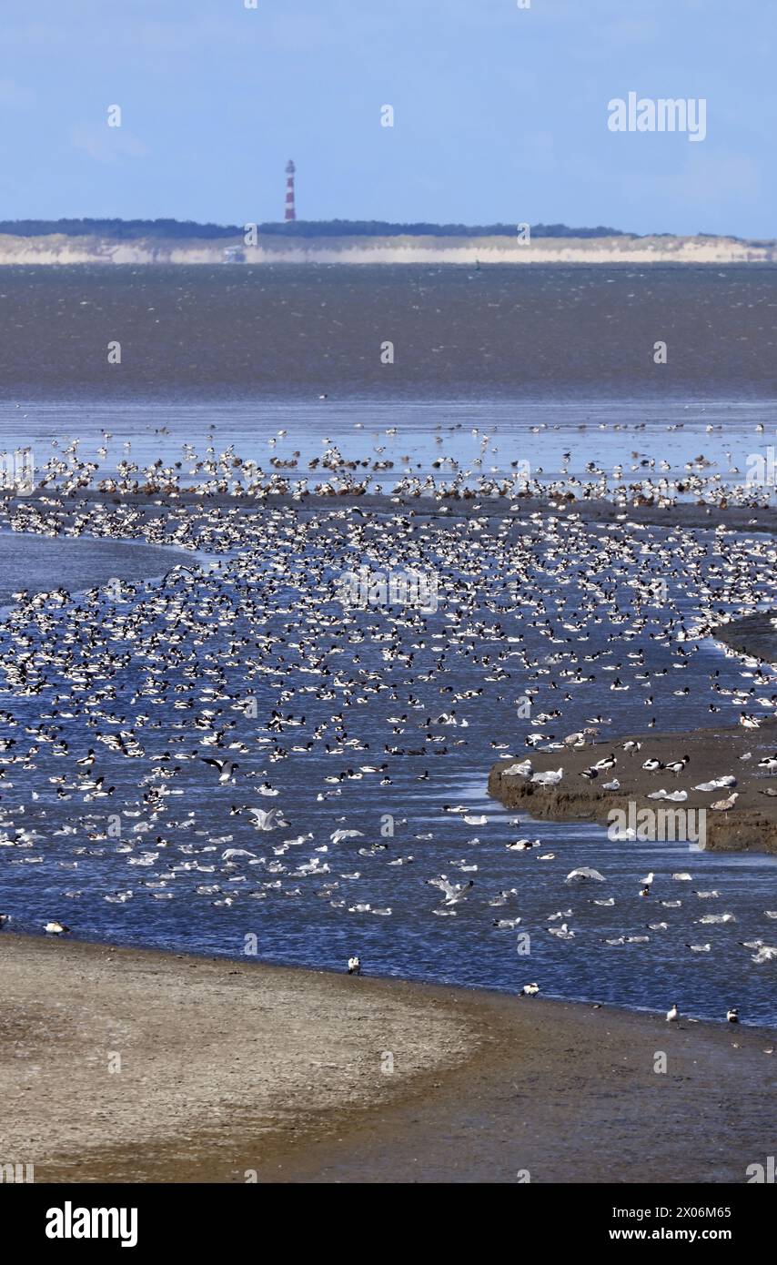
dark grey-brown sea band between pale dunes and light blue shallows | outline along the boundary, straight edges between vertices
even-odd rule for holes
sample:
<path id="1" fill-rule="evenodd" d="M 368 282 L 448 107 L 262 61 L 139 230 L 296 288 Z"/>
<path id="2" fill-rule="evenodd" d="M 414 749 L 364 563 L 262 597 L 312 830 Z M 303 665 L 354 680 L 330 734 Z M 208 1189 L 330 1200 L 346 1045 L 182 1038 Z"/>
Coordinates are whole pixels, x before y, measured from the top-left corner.
<path id="1" fill-rule="evenodd" d="M 22 402 L 777 398 L 771 264 L 8 267 L 0 328 Z"/>

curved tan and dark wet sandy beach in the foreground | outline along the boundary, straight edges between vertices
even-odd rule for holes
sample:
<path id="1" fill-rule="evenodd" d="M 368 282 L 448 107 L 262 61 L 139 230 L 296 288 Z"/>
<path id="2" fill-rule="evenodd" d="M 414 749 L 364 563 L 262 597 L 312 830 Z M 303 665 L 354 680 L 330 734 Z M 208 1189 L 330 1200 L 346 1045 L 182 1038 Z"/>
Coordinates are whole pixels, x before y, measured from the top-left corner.
<path id="1" fill-rule="evenodd" d="M 0 1161 L 37 1182 L 740 1183 L 773 1154 L 771 1032 L 8 934 L 0 954 Z"/>

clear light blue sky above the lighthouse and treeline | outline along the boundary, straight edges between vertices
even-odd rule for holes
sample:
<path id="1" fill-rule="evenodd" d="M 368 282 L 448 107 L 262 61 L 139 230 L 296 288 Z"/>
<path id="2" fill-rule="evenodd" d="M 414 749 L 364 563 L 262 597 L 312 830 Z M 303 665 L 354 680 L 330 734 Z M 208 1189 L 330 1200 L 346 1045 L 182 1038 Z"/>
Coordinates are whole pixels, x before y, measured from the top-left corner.
<path id="1" fill-rule="evenodd" d="M 0 219 L 281 219 L 294 157 L 305 219 L 777 235 L 774 0 L 3 0 L 0 19 Z M 705 97 L 706 139 L 611 133 L 629 91 Z"/>

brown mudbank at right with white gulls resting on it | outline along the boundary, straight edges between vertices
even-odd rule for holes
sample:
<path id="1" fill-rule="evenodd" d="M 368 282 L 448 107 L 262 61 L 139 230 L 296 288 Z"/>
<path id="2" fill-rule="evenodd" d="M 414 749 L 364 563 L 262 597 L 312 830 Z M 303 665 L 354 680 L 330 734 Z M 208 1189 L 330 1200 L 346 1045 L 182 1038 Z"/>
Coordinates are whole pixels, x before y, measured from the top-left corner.
<path id="1" fill-rule="evenodd" d="M 628 739 L 642 743 L 642 750 L 629 755 L 623 750 Z M 659 737 L 653 734 L 624 734 L 619 737 L 587 744 L 582 750 L 564 751 L 523 751 L 510 759 L 499 760 L 488 775 L 488 792 L 507 808 L 519 808 L 533 817 L 550 821 L 607 821 L 610 810 L 629 811 L 635 806 L 639 813 L 650 810 L 707 810 L 706 848 L 709 851 L 759 851 L 777 854 L 777 797 L 763 792 L 772 787 L 777 789 L 777 778 L 766 769 L 758 768 L 762 754 L 772 754 L 777 749 L 777 721 L 763 721 L 758 730 L 745 730 L 738 726 L 710 730 L 696 730 L 690 734 L 669 734 Z M 750 760 L 740 756 L 752 751 Z M 614 769 L 587 782 L 581 774 L 597 760 L 614 753 L 618 764 Z M 557 787 L 542 787 L 520 774 L 505 775 L 505 769 L 530 755 L 535 773 L 563 768 L 564 775 Z M 642 764 L 648 756 L 664 764 L 690 756 L 686 769 L 676 777 L 664 769 L 649 772 Z M 730 789 L 714 792 L 695 791 L 693 787 L 733 774 L 737 778 L 738 799 L 730 812 L 712 812 L 710 805 L 726 799 Z M 602 782 L 618 779 L 618 791 L 604 791 Z M 664 799 L 649 799 L 654 791 L 687 791 L 688 797 L 682 803 Z M 676 818 L 680 820 L 680 818 Z M 697 820 L 697 818 L 695 818 Z M 683 839 L 683 834 L 673 837 Z"/>

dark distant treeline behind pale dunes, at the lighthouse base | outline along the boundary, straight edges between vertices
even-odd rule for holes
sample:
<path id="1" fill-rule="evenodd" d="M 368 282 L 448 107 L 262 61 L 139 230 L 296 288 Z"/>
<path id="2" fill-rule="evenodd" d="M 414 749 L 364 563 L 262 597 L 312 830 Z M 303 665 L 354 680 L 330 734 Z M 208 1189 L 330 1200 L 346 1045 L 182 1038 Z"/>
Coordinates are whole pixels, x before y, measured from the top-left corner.
<path id="1" fill-rule="evenodd" d="M 388 224 L 383 220 L 292 220 L 258 224 L 264 237 L 515 237 L 516 224 Z M 139 238 L 242 238 L 244 225 L 195 224 L 192 220 L 0 220 L 0 233 L 14 237 L 100 237 L 114 242 Z M 629 237 L 620 229 L 569 229 L 566 224 L 534 224 L 531 237 Z"/>

